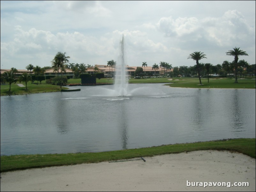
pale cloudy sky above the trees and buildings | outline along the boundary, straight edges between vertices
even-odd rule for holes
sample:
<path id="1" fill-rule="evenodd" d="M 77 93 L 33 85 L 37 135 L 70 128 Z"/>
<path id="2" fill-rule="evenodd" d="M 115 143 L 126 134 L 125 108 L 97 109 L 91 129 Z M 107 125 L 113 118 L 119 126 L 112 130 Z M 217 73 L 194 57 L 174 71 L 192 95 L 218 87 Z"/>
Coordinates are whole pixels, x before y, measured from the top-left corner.
<path id="1" fill-rule="evenodd" d="M 1 69 L 51 66 L 57 52 L 69 63 L 119 62 L 124 36 L 125 64 L 167 62 L 194 66 L 222 64 L 235 47 L 255 64 L 255 1 L 1 1 Z"/>

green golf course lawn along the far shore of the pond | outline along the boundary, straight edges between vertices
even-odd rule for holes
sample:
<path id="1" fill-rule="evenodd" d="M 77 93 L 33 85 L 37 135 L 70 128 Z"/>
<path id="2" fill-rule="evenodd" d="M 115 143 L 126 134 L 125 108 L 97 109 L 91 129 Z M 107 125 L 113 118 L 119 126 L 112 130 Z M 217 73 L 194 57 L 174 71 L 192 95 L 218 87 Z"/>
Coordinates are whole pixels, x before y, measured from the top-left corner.
<path id="1" fill-rule="evenodd" d="M 198 78 L 145 78 L 145 79 L 129 79 L 129 83 L 166 83 L 171 87 L 184 88 L 232 88 L 232 89 L 255 89 L 255 78 L 238 79 L 238 83 L 234 83 L 231 78 L 210 78 L 209 83 L 207 78 L 202 78 L 202 84 L 199 85 Z M 79 84 L 81 79 L 69 79 L 67 84 Z M 114 83 L 112 78 L 97 79 L 97 83 Z M 24 82 L 21 84 L 25 85 Z M 63 87 L 63 89 L 68 89 Z M 25 87 L 19 87 L 17 84 L 11 84 L 11 92 L 9 92 L 9 85 L 1 85 L 1 96 L 4 95 L 24 95 L 30 93 L 41 92 L 58 92 L 61 91 L 60 86 L 46 84 L 31 84 L 28 82 L 27 90 Z"/>

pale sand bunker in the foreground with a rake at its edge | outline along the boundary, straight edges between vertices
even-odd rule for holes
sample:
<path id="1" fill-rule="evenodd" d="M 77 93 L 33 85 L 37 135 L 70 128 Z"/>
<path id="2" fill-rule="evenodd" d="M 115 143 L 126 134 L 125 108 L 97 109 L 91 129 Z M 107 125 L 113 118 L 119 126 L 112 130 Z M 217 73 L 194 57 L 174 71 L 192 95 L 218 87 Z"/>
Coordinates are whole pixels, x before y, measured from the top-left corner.
<path id="1" fill-rule="evenodd" d="M 1 173 L 1 191 L 255 191 L 255 159 L 193 151 Z M 249 182 L 249 187 L 188 187 L 189 182 Z"/>

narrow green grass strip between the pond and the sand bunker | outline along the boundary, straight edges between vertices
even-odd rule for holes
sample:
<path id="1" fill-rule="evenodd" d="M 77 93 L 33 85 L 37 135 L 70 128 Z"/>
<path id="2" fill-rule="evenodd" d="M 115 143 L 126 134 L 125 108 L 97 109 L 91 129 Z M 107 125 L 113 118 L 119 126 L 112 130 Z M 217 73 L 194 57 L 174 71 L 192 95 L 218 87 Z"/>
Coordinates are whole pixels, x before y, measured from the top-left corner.
<path id="1" fill-rule="evenodd" d="M 36 154 L 1 156 L 1 172 L 40 168 L 48 166 L 75 165 L 81 163 L 97 163 L 148 157 L 169 153 L 180 153 L 198 150 L 227 150 L 236 151 L 255 158 L 255 138 L 240 138 L 208 142 L 162 145 L 140 149 L 107 151 L 97 153 L 68 153 L 68 154 Z"/>

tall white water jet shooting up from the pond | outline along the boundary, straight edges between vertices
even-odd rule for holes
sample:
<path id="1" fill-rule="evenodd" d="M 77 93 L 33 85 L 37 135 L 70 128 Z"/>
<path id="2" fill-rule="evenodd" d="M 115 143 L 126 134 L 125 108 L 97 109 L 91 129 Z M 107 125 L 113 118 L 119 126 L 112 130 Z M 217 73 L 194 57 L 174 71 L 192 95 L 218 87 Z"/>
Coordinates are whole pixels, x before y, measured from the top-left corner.
<path id="1" fill-rule="evenodd" d="M 127 95 L 127 76 L 126 76 L 126 63 L 125 63 L 125 50 L 124 50 L 124 35 L 120 41 L 120 56 L 116 66 L 116 76 L 115 76 L 115 91 L 118 96 Z"/>

